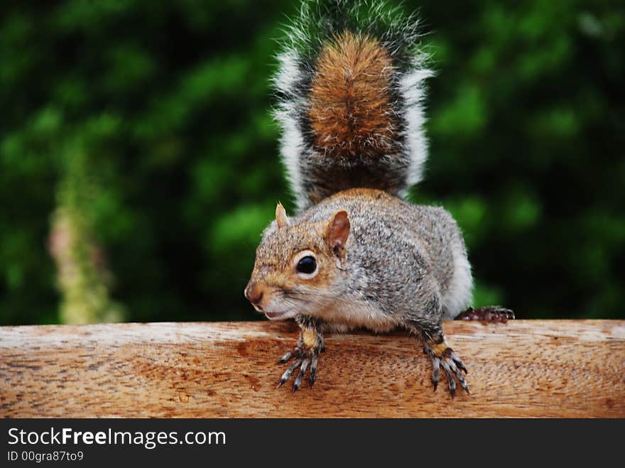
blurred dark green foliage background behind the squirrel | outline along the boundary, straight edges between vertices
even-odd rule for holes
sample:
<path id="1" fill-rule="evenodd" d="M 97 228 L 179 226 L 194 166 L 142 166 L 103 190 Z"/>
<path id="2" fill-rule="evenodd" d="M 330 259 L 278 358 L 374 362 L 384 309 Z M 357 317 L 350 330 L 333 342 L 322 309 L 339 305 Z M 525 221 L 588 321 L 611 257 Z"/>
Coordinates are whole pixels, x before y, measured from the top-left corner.
<path id="1" fill-rule="evenodd" d="M 3 1 L 0 324 L 254 320 L 293 1 Z M 406 1 L 433 55 L 426 179 L 475 305 L 625 318 L 625 7 Z"/>

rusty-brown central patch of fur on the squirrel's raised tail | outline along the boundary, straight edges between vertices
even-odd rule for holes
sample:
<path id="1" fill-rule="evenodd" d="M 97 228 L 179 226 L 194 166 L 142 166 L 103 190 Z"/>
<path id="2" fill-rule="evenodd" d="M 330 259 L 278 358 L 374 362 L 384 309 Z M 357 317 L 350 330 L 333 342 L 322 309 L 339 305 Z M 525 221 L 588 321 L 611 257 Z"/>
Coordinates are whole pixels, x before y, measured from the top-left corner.
<path id="1" fill-rule="evenodd" d="M 393 65 L 378 40 L 349 31 L 321 50 L 312 78 L 309 117 L 325 156 L 381 156 L 396 142 L 391 107 Z"/>

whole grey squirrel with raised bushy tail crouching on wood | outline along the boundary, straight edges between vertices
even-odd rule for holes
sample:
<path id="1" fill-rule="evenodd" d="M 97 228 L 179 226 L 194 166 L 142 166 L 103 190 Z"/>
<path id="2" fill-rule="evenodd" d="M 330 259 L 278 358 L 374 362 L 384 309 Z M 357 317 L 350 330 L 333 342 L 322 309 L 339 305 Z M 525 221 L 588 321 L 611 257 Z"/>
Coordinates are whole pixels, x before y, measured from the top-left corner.
<path id="1" fill-rule="evenodd" d="M 427 156 L 425 67 L 418 21 L 386 2 L 303 0 L 278 55 L 273 84 L 281 153 L 297 213 L 283 205 L 264 230 L 245 296 L 270 320 L 294 319 L 300 338 L 278 387 L 315 382 L 324 332 L 409 330 L 451 396 L 469 386 L 442 320 L 507 321 L 472 309 L 462 233 L 442 207 L 408 190 Z"/>

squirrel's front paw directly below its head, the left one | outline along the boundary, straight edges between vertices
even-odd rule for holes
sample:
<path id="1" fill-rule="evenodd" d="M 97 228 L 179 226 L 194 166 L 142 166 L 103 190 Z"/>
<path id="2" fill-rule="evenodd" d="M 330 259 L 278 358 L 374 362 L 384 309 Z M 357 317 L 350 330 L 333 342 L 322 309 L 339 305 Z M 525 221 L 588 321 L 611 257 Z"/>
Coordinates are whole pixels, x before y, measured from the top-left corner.
<path id="1" fill-rule="evenodd" d="M 286 353 L 283 357 L 281 357 L 281 359 L 278 359 L 278 364 L 284 364 L 285 362 L 290 361 L 290 359 L 295 359 L 293 364 L 291 364 L 289 368 L 286 369 L 285 373 L 282 374 L 280 382 L 278 383 L 278 388 L 280 388 L 283 383 L 288 381 L 291 374 L 293 374 L 293 371 L 298 369 L 298 367 L 298 376 L 295 377 L 295 381 L 293 382 L 293 391 L 300 388 L 304 375 L 308 369 L 310 369 L 308 383 L 312 387 L 312 384 L 315 383 L 315 379 L 317 377 L 317 362 L 319 361 L 319 353 L 321 351 L 323 351 L 322 335 L 316 330 L 303 330 L 295 349 Z"/>

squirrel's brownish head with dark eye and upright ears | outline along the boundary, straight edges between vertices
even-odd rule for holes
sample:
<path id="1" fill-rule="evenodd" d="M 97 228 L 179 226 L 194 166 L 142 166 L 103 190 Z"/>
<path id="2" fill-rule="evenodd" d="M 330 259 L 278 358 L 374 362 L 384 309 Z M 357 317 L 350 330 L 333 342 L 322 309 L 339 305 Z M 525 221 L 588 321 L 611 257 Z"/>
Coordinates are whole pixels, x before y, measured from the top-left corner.
<path id="1" fill-rule="evenodd" d="M 278 203 L 276 222 L 256 249 L 245 297 L 270 320 L 314 316 L 336 299 L 347 267 L 349 227 L 344 210 L 322 222 L 292 222 Z"/>

